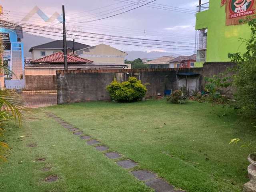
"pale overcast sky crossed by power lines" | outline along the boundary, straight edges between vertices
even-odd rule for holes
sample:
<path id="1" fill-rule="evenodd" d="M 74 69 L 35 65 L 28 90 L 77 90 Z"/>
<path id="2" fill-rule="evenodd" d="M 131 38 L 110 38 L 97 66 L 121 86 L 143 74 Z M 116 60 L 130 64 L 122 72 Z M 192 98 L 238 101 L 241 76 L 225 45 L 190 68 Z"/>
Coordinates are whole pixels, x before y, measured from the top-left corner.
<path id="1" fill-rule="evenodd" d="M 120 2 L 123 1 L 123 2 Z M 52 16 L 54 12 L 62 13 L 62 4 L 66 9 L 66 21 L 67 22 L 81 22 L 90 21 L 98 18 L 103 18 L 116 13 L 135 8 L 139 5 L 133 5 L 131 3 L 138 2 L 138 0 L 0 0 L 4 7 L 5 20 L 12 22 L 21 22 L 22 18 L 35 6 L 38 6 L 42 12 L 48 17 Z M 142 4 L 150 2 L 152 0 L 144 0 Z M 79 30 L 84 32 L 94 32 L 101 34 L 110 34 L 135 38 L 147 38 L 154 40 L 166 40 L 175 42 L 188 42 L 195 41 L 195 16 L 192 13 L 196 12 L 196 6 L 198 0 L 156 0 L 154 3 L 148 4 L 148 6 L 154 6 L 154 8 L 143 6 L 135 10 L 126 12 L 124 14 L 114 16 L 112 18 L 106 18 L 94 22 L 85 22 L 80 24 L 67 23 L 67 28 L 70 30 Z M 134 3 L 135 4 L 135 3 Z M 163 5 L 159 5 L 163 4 Z M 128 7 L 130 6 L 130 7 Z M 170 7 L 172 6 L 172 7 Z M 178 7 L 180 8 L 173 8 Z M 119 10 L 122 9 L 122 10 Z M 168 10 L 164 10 L 168 9 Z M 172 10 L 170 10 L 172 9 Z M 118 11 L 119 10 L 119 11 Z M 180 12 L 180 10 L 182 10 Z M 113 13 L 110 13 L 113 12 Z M 44 22 L 37 14 L 24 23 L 37 24 L 42 26 L 52 26 L 62 28 L 62 24 L 55 20 L 52 23 Z M 24 29 L 25 30 L 25 29 Z M 47 29 L 43 29 L 47 30 Z M 71 33 L 71 32 L 70 32 Z M 47 36 L 54 39 L 61 39 L 54 36 Z M 98 36 L 97 36 L 98 37 Z M 94 39 L 97 40 L 97 39 Z M 100 44 L 95 41 L 89 40 L 76 40 L 89 45 Z M 155 42 L 153 42 L 155 43 Z M 162 52 L 175 52 L 175 53 L 187 53 L 193 52 L 193 48 L 188 50 L 172 50 L 152 47 L 139 47 L 118 45 L 115 43 L 105 43 L 114 46 L 115 48 L 131 51 L 162 51 Z M 191 46 L 190 45 L 190 46 Z M 154 45 L 152 45 L 154 46 Z"/>

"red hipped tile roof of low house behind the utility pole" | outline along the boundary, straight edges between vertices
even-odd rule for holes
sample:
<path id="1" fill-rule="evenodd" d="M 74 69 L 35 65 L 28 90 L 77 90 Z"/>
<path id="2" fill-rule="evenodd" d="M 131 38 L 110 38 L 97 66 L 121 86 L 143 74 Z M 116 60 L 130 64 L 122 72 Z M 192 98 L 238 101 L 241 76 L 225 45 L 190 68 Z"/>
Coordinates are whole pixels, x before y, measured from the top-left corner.
<path id="1" fill-rule="evenodd" d="M 88 59 L 77 57 L 74 55 L 68 55 L 67 57 L 68 57 L 69 64 L 85 64 L 85 63 L 93 62 Z M 39 63 L 61 64 L 61 63 L 64 63 L 64 54 L 63 54 L 63 52 L 58 52 L 58 53 L 34 60 L 31 63 L 34 63 L 34 64 L 39 64 Z"/>

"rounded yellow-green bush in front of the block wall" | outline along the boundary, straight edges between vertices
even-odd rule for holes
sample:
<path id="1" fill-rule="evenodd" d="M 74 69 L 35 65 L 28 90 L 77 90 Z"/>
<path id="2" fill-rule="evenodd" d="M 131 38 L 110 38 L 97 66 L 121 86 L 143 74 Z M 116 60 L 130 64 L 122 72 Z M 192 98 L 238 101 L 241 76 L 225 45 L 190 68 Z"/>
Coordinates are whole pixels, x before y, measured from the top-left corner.
<path id="1" fill-rule="evenodd" d="M 141 100 L 147 92 L 146 86 L 136 77 L 130 77 L 122 83 L 115 79 L 106 88 L 112 100 L 117 102 L 134 102 Z"/>

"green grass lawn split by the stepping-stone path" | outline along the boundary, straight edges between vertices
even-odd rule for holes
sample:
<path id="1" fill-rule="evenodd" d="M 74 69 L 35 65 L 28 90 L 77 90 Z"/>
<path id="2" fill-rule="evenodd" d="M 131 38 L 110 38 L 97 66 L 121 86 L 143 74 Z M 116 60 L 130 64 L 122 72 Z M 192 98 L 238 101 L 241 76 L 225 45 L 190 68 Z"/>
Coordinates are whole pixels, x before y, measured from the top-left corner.
<path id="1" fill-rule="evenodd" d="M 112 151 L 138 162 L 187 192 L 240 192 L 248 182 L 248 148 L 256 129 L 231 108 L 165 100 L 119 104 L 88 102 L 30 110 L 22 128 L 12 126 L 8 162 L 0 165 L 4 192 L 150 192 L 102 152 L 72 135 L 44 112 L 53 112 Z M 24 136 L 24 137 L 20 137 Z M 28 144 L 36 144 L 29 148 Z M 256 151 L 256 148 L 253 148 Z M 44 162 L 33 162 L 46 158 Z M 42 172 L 51 167 L 48 172 Z M 57 182 L 44 178 L 58 175 Z"/>

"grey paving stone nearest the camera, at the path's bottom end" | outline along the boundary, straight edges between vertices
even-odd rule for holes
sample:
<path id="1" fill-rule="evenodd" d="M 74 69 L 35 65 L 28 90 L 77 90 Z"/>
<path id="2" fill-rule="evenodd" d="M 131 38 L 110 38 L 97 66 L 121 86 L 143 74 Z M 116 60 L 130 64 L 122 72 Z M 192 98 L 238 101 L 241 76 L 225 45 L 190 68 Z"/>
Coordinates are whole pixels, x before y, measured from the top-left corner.
<path id="1" fill-rule="evenodd" d="M 156 190 L 156 192 L 173 192 L 174 186 L 162 179 L 154 179 L 146 182 L 146 185 Z"/>

